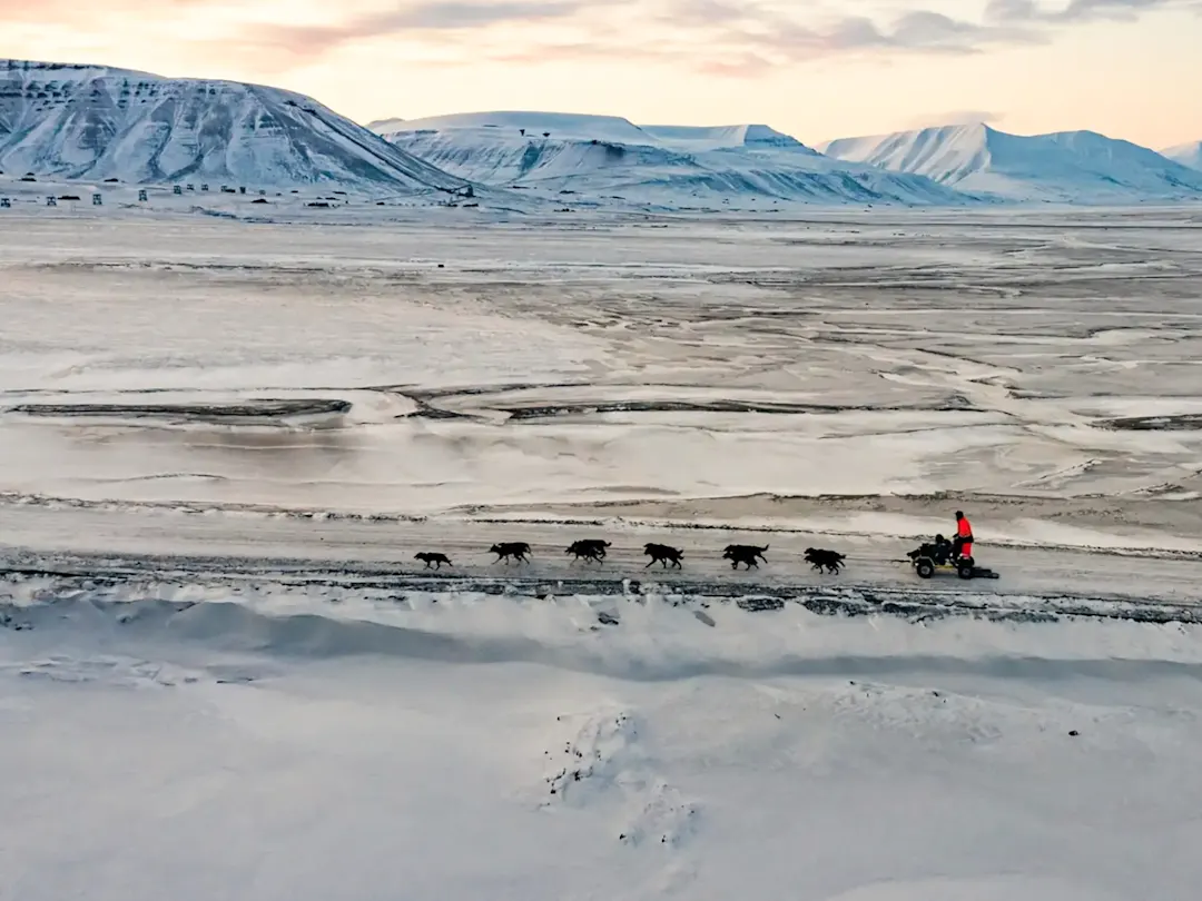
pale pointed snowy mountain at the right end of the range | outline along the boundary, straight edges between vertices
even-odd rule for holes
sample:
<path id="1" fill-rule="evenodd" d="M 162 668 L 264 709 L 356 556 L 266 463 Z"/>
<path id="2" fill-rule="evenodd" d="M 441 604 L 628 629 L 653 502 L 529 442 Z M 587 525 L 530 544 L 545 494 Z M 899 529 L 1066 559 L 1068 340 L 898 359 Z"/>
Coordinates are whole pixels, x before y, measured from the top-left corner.
<path id="1" fill-rule="evenodd" d="M 926 175 L 1020 201 L 1125 203 L 1202 199 L 1202 174 L 1154 150 L 1091 131 L 1023 137 L 988 125 L 832 141 L 839 160 Z"/>

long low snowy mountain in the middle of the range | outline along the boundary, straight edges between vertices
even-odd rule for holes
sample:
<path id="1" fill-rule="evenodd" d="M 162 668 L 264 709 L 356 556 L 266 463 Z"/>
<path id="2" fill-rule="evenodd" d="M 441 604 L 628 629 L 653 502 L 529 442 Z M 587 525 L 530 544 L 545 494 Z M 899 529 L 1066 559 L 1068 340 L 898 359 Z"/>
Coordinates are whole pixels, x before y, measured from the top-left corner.
<path id="1" fill-rule="evenodd" d="M 400 129 L 381 129 L 388 141 L 462 178 L 606 202 L 962 204 L 972 199 L 921 175 L 832 160 L 763 125 L 638 126 L 620 117 L 536 112 L 399 121 Z"/>

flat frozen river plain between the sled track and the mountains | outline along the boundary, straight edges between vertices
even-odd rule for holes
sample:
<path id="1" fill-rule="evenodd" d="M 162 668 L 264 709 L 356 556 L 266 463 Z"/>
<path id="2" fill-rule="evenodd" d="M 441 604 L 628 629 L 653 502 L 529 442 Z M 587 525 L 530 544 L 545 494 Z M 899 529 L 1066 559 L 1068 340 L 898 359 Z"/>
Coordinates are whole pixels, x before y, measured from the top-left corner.
<path id="1" fill-rule="evenodd" d="M 1202 550 L 1188 211 L 0 227 L 10 499 Z"/>

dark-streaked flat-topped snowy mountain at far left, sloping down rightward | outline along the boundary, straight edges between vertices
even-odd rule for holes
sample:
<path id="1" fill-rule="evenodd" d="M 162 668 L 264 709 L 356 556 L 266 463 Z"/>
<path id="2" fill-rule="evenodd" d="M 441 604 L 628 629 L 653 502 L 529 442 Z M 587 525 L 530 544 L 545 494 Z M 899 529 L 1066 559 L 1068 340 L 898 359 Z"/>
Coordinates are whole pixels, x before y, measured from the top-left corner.
<path id="1" fill-rule="evenodd" d="M 18 60 L 0 61 L 0 169 L 139 183 L 464 185 L 300 94 Z"/>

